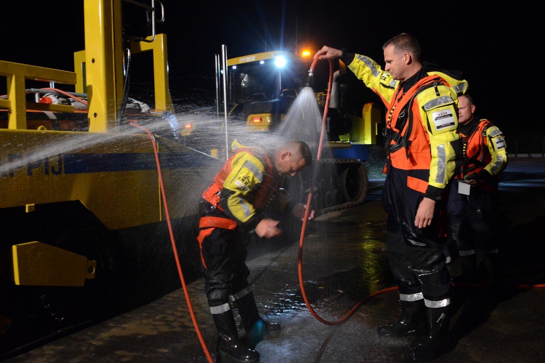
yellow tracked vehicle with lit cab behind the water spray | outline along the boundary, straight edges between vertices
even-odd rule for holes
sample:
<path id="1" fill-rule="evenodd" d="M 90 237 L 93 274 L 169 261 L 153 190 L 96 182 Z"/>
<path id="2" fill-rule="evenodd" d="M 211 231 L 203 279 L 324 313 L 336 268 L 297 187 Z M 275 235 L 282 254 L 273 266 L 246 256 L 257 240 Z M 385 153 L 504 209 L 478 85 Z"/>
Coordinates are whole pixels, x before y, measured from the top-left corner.
<path id="1" fill-rule="evenodd" d="M 245 125 L 245 132 L 275 132 L 301 91 L 312 87 L 320 111 L 327 112 L 325 146 L 328 151 L 318 171 L 322 178 L 314 185 L 314 208 L 323 214 L 364 201 L 368 187 L 366 161 L 370 146 L 377 143 L 382 117 L 381 108 L 373 102 L 367 102 L 360 114 L 349 112 L 344 106 L 350 88 L 339 81 L 340 76 L 346 74 L 346 65 L 340 60 L 332 75 L 330 102 L 325 110 L 327 89 L 308 82 L 310 54 L 310 51 L 268 51 L 227 59 L 226 97 L 225 100 L 218 98 L 218 102 L 226 102 L 229 120 Z M 306 185 L 303 191 L 294 193 L 292 190 L 292 195 L 301 201 L 306 200 L 311 187 L 310 172 L 301 173 L 300 181 Z"/>

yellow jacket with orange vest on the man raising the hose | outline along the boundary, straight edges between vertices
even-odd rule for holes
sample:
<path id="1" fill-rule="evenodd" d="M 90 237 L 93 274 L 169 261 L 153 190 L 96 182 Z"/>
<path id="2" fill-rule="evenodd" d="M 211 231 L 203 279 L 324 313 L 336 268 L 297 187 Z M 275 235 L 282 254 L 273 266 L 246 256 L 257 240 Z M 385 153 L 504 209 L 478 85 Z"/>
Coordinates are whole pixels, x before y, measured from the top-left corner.
<path id="1" fill-rule="evenodd" d="M 468 82 L 431 69 L 403 93 L 401 82 L 371 58 L 356 54 L 348 68 L 386 106 L 389 166 L 407 175 L 411 189 L 440 198 L 461 158 L 458 95 Z"/>

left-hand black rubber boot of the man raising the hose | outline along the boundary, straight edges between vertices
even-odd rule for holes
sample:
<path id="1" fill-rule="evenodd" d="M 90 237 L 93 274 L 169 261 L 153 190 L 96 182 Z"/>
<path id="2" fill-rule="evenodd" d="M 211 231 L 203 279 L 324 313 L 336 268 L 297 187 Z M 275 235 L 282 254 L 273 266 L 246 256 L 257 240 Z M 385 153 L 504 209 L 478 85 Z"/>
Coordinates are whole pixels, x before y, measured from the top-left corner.
<path id="1" fill-rule="evenodd" d="M 424 300 L 401 301 L 401 320 L 392 325 L 380 325 L 381 336 L 417 336 L 426 334 L 426 306 Z"/>

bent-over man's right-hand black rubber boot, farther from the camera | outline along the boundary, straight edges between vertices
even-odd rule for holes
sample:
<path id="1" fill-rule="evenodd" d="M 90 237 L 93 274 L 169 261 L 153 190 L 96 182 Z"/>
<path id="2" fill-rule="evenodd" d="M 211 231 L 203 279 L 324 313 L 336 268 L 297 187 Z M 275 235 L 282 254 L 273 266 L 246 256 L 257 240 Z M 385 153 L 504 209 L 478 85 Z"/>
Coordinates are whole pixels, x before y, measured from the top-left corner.
<path id="1" fill-rule="evenodd" d="M 269 323 L 259 316 L 256 300 L 253 298 L 252 292 L 238 299 L 236 307 L 243 328 L 246 330 L 246 342 L 249 347 L 255 348 L 257 343 L 261 342 L 266 335 L 280 330 L 280 324 Z"/>

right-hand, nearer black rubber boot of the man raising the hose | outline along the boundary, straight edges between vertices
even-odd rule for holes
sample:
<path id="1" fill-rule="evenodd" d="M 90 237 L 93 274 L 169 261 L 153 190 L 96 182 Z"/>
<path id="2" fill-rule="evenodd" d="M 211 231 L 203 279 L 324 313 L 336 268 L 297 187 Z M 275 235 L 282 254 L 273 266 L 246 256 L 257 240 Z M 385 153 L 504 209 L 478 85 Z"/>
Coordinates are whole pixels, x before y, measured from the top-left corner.
<path id="1" fill-rule="evenodd" d="M 449 349 L 448 306 L 427 308 L 426 316 L 429 335 L 423 342 L 409 349 L 409 360 L 417 362 L 434 360 Z"/>

